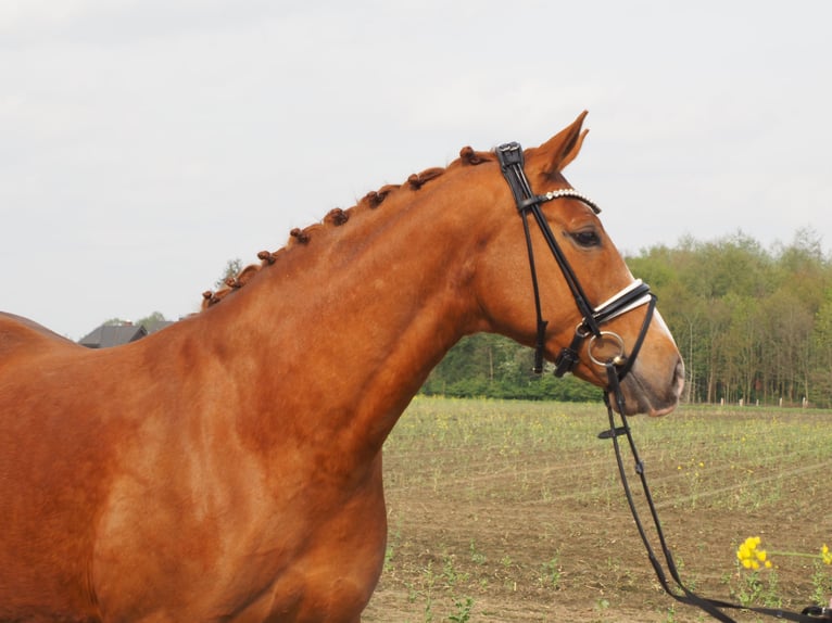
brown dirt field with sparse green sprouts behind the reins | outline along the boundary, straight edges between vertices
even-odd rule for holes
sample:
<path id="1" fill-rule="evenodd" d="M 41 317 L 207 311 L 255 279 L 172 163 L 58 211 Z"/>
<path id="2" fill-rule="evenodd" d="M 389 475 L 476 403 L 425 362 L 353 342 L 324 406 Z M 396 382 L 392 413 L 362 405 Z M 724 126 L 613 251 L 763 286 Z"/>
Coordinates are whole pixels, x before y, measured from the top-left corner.
<path id="1" fill-rule="evenodd" d="M 832 546 L 832 414 L 682 408 L 631 425 L 689 588 L 798 611 L 832 595 L 817 556 Z M 659 588 L 605 428 L 601 403 L 417 398 L 386 447 L 388 560 L 363 620 L 710 620 Z M 771 569 L 739 564 L 752 535 Z"/>

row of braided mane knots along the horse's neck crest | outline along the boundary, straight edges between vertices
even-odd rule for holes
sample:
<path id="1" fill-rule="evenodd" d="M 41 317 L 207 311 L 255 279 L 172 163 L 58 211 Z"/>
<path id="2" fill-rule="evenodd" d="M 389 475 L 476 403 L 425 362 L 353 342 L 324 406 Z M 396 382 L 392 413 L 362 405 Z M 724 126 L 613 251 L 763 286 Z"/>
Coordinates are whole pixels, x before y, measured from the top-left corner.
<path id="1" fill-rule="evenodd" d="M 201 309 L 207 309 L 213 307 L 223 298 L 239 290 L 245 285 L 251 279 L 260 272 L 263 268 L 275 264 L 280 256 L 287 251 L 297 245 L 308 244 L 315 232 L 328 227 L 340 227 L 350 220 L 350 216 L 357 209 L 375 209 L 380 206 L 385 200 L 396 191 L 418 191 L 423 186 L 442 176 L 449 169 L 456 168 L 458 166 L 475 166 L 484 162 L 491 162 L 494 160 L 492 152 L 478 152 L 470 147 L 465 147 L 459 151 L 459 157 L 452 162 L 447 167 L 432 167 L 425 169 L 419 174 L 413 174 L 407 178 L 404 185 L 387 185 L 379 190 L 368 192 L 358 203 L 348 209 L 341 209 L 336 207 L 330 209 L 324 217 L 324 220 L 310 225 L 303 229 L 294 228 L 289 232 L 289 240 L 282 249 L 278 249 L 275 252 L 261 251 L 257 253 L 260 264 L 250 264 L 236 277 L 229 277 L 225 280 L 225 285 L 217 291 L 206 290 L 202 293 L 202 306 Z"/>

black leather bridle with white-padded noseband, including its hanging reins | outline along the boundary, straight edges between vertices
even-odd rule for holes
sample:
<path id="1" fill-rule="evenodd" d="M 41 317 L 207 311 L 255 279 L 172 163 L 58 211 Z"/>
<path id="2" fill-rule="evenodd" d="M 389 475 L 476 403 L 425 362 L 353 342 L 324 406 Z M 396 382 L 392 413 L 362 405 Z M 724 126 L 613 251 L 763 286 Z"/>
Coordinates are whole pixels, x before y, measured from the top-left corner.
<path id="1" fill-rule="evenodd" d="M 598 437 L 613 440 L 613 446 L 615 447 L 616 454 L 616 462 L 618 463 L 618 473 L 621 476 L 621 485 L 623 486 L 627 503 L 630 507 L 630 512 L 632 513 L 633 520 L 635 521 L 635 526 L 639 531 L 642 543 L 644 544 L 644 548 L 647 551 L 647 557 L 650 558 L 651 564 L 656 572 L 656 577 L 658 578 L 659 584 L 661 584 L 661 587 L 670 597 L 677 601 L 690 606 L 695 606 L 707 612 L 714 619 L 724 623 L 735 622 L 728 614 L 722 612 L 722 609 L 748 610 L 752 612 L 774 616 L 776 619 L 804 623 L 817 623 L 818 621 L 832 620 L 832 609 L 830 608 L 811 606 L 804 609 L 801 614 L 773 608 L 746 608 L 740 606 L 739 603 L 730 603 L 717 599 L 699 597 L 682 583 L 679 576 L 679 570 L 676 567 L 672 554 L 670 552 L 670 549 L 665 539 L 661 524 L 658 519 L 658 513 L 653 503 L 653 496 L 651 495 L 650 487 L 647 486 L 644 462 L 639 457 L 639 453 L 635 448 L 635 442 L 633 441 L 632 433 L 630 431 L 630 425 L 627 421 L 627 417 L 625 416 L 626 404 L 623 392 L 621 391 L 620 385 L 621 380 L 632 368 L 633 361 L 635 360 L 635 357 L 638 356 L 642 343 L 646 336 L 647 330 L 650 329 L 650 323 L 656 307 L 656 296 L 650 291 L 650 287 L 645 283 L 642 283 L 642 281 L 639 279 L 615 294 L 608 301 L 602 303 L 597 307 L 593 307 L 590 304 L 583 289 L 581 288 L 575 271 L 569 265 L 569 262 L 566 259 L 566 256 L 560 250 L 560 246 L 557 243 L 557 239 L 552 232 L 552 229 L 549 226 L 549 221 L 543 215 L 541 205 L 555 199 L 571 198 L 587 204 L 595 214 L 598 214 L 601 209 L 592 201 L 571 188 L 555 190 L 547 192 L 546 194 L 534 194 L 531 190 L 531 187 L 529 186 L 529 180 L 526 177 L 526 173 L 524 170 L 524 154 L 522 149 L 518 143 L 512 142 L 500 145 L 496 149 L 496 155 L 497 160 L 500 161 L 500 166 L 503 170 L 503 175 L 505 176 L 505 179 L 514 194 L 517 209 L 522 217 L 522 227 L 526 233 L 526 245 L 529 253 L 529 266 L 531 269 L 531 281 L 534 292 L 534 308 L 537 312 L 538 327 L 534 354 L 534 371 L 537 373 L 541 373 L 543 371 L 543 352 L 545 348 L 547 321 L 543 319 L 541 308 L 540 287 L 538 284 L 538 274 L 534 265 L 534 250 L 529 228 L 529 214 L 534 217 L 538 227 L 543 233 L 543 238 L 546 241 L 552 255 L 557 262 L 558 267 L 560 268 L 560 272 L 563 274 L 564 279 L 566 280 L 566 283 L 572 293 L 575 303 L 578 306 L 578 310 L 582 317 L 581 322 L 578 325 L 575 331 L 575 336 L 572 338 L 571 343 L 568 347 L 563 348 L 555 359 L 555 376 L 562 377 L 575 368 L 575 366 L 580 360 L 580 348 L 582 343 L 585 339 L 589 338 L 590 342 L 587 347 L 587 354 L 593 364 L 601 366 L 606 370 L 607 377 L 607 386 L 606 391 L 604 392 L 604 403 L 607 406 L 609 429 L 603 431 Z M 644 321 L 642 323 L 641 330 L 639 331 L 639 335 L 635 339 L 635 343 L 630 349 L 630 353 L 627 354 L 623 340 L 612 331 L 602 331 L 601 326 L 604 322 L 612 320 L 613 318 L 616 318 L 645 304 L 647 305 L 647 312 Z M 605 339 L 617 342 L 619 352 L 614 357 L 606 357 L 602 360 L 593 356 L 593 344 L 596 340 Z M 610 396 L 613 396 L 613 399 L 615 400 L 615 407 L 621 418 L 621 425 L 616 425 L 615 411 L 613 408 L 613 403 L 610 402 Z M 665 569 L 663 568 L 661 562 L 659 561 L 653 549 L 653 546 L 651 545 L 651 539 L 647 536 L 647 532 L 635 507 L 635 501 L 633 499 L 632 492 L 627 479 L 627 472 L 625 470 L 621 445 L 618 443 L 618 437 L 621 435 L 625 435 L 629 443 L 630 452 L 635 462 L 635 473 L 639 474 L 642 490 L 644 491 L 644 497 L 650 508 L 650 513 L 655 526 L 656 536 L 661 548 L 661 554 L 665 558 L 665 563 L 667 564 L 667 571 L 676 584 L 676 588 L 673 588 L 668 581 Z"/>

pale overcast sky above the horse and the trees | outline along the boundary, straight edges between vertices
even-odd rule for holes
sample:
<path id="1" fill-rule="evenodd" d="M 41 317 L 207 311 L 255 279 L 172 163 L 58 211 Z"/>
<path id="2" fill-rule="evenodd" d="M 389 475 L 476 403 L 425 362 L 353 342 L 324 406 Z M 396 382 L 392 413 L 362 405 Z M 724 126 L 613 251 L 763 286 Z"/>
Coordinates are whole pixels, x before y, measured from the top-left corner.
<path id="1" fill-rule="evenodd" d="M 629 254 L 832 249 L 832 3 L 0 0 L 0 309 L 78 340 L 464 145 L 583 110 Z"/>

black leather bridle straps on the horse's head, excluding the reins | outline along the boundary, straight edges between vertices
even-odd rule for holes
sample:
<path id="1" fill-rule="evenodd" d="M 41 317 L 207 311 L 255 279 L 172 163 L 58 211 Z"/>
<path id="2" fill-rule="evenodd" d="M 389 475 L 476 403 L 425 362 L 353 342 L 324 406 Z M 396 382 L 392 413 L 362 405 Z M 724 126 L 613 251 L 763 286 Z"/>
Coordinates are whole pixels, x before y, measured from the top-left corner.
<path id="1" fill-rule="evenodd" d="M 596 366 L 601 366 L 607 369 L 607 376 L 610 370 L 615 371 L 616 381 L 620 381 L 625 378 L 627 372 L 630 371 L 635 356 L 641 349 L 641 345 L 644 342 L 644 338 L 647 333 L 651 319 L 653 318 L 653 310 L 656 307 L 656 297 L 651 293 L 650 287 L 643 283 L 641 279 L 638 279 L 630 283 L 627 288 L 615 294 L 608 301 L 605 301 L 597 307 L 593 307 L 587 294 L 581 288 L 578 277 L 575 275 L 572 267 L 566 259 L 560 245 L 557 243 L 555 234 L 552 232 L 552 228 L 549 226 L 549 221 L 543 215 L 541 205 L 550 201 L 562 198 L 577 199 L 587 204 L 595 214 L 601 212 L 597 205 L 592 201 L 583 196 L 581 193 L 571 188 L 564 188 L 559 190 L 553 190 L 546 194 L 534 194 L 529 186 L 529 180 L 524 171 L 524 156 L 522 149 L 519 143 L 512 142 L 500 145 L 496 149 L 496 155 L 500 161 L 500 166 L 503 170 L 512 192 L 514 193 L 515 202 L 517 203 L 517 209 L 522 217 L 522 227 L 526 233 L 526 246 L 529 252 L 529 266 L 531 268 L 531 282 L 534 291 L 534 309 L 538 316 L 538 332 L 537 343 L 534 349 L 534 372 L 541 373 L 543 371 L 543 351 L 546 341 L 546 326 L 547 320 L 543 319 L 543 313 L 540 303 L 540 287 L 538 284 L 538 271 L 534 265 L 534 249 L 531 241 L 531 231 L 529 229 L 529 214 L 534 217 L 534 220 L 543 233 L 543 238 L 546 241 L 552 255 L 557 262 L 560 272 L 566 280 L 569 290 L 572 293 L 575 303 L 578 306 L 578 310 L 581 314 L 581 321 L 575 330 L 575 336 L 568 347 L 563 348 L 555 359 L 555 376 L 563 377 L 566 372 L 571 372 L 575 366 L 580 360 L 579 353 L 584 340 L 589 338 L 588 355 L 590 360 Z M 625 342 L 620 335 L 612 331 L 602 331 L 601 326 L 608 322 L 613 318 L 617 318 L 622 314 L 626 314 L 636 307 L 647 305 L 647 314 L 644 318 L 641 331 L 633 344 L 630 354 L 627 355 L 625 351 Z M 618 346 L 618 353 L 613 357 L 606 359 L 598 359 L 593 356 L 593 346 L 598 342 L 612 341 Z"/>

